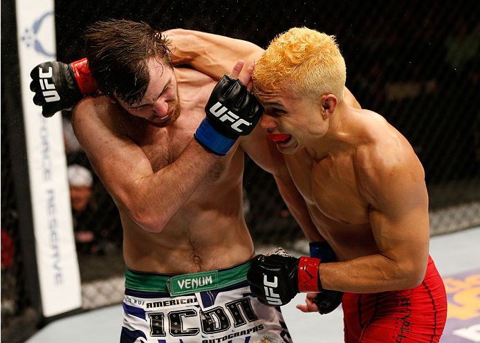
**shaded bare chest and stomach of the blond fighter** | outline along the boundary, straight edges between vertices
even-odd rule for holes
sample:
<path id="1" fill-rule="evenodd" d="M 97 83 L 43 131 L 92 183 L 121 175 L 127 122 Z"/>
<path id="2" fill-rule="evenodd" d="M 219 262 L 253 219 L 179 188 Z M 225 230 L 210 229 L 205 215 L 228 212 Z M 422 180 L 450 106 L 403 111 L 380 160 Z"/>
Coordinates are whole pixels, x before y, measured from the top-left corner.
<path id="1" fill-rule="evenodd" d="M 345 261 L 377 252 L 369 225 L 369 204 L 356 187 L 351 156 L 314 161 L 305 151 L 299 151 L 285 159 L 313 223 L 338 259 Z M 340 170 L 340 165 L 348 167 Z M 352 245 L 352 241 L 362 244 Z"/>

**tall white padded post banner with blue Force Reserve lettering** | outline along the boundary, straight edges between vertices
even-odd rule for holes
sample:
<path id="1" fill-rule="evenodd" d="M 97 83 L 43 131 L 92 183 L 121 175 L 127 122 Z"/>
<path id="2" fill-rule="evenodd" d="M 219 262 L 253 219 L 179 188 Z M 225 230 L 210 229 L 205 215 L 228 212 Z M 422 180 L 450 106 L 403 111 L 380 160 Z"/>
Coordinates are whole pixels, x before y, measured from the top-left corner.
<path id="1" fill-rule="evenodd" d="M 53 0 L 16 0 L 21 97 L 44 317 L 82 306 L 60 113 L 33 104 L 30 71 L 55 60 Z"/>

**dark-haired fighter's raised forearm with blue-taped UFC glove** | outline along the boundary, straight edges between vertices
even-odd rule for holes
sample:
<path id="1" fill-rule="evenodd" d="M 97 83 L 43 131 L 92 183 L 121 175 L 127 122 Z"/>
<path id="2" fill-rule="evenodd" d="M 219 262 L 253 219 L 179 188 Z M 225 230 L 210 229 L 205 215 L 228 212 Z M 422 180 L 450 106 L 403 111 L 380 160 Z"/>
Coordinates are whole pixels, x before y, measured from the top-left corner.
<path id="1" fill-rule="evenodd" d="M 239 68 L 241 68 L 241 64 L 239 64 Z M 238 72 L 239 68 L 234 69 L 232 74 Z M 250 69 L 249 71 L 251 73 Z M 236 76 L 238 75 L 234 75 L 234 77 Z M 230 91 L 224 96 L 226 90 L 230 89 L 234 89 L 234 91 Z M 212 108 L 214 104 L 219 104 L 219 98 L 222 99 L 225 109 L 232 109 L 232 106 L 239 104 L 239 99 L 243 101 L 241 106 L 235 107 L 238 118 L 243 120 L 243 127 L 239 129 L 228 120 L 223 122 L 214 115 Z M 150 216 L 147 216 L 153 221 L 143 223 L 142 227 L 145 230 L 162 230 L 185 201 L 192 196 L 218 156 L 228 154 L 228 151 L 236 144 L 239 135 L 248 135 L 261 115 L 261 106 L 255 102 L 253 95 L 246 88 L 239 86 L 238 80 L 230 77 L 223 77 L 216 84 L 205 109 L 207 109 L 205 119 L 196 129 L 194 140 L 190 142 L 180 158 L 154 173 L 150 177 L 151 180 L 140 181 L 144 185 L 145 192 L 152 194 L 156 201 L 153 207 L 145 202 L 145 205 L 149 205 L 149 208 L 154 210 L 149 212 Z M 155 187 L 153 189 L 150 187 L 151 183 L 161 187 L 163 194 L 156 194 L 157 190 Z M 159 209 L 161 214 L 158 214 Z M 145 215 L 142 215 L 140 219 L 144 217 Z M 133 219 L 135 220 L 135 218 Z"/>

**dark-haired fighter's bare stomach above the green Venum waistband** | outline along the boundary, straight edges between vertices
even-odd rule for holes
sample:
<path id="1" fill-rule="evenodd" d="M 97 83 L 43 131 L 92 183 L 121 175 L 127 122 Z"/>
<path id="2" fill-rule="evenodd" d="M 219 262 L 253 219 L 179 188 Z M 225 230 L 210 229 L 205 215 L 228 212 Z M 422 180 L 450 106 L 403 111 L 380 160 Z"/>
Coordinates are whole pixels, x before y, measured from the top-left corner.
<path id="1" fill-rule="evenodd" d="M 250 259 L 253 243 L 241 202 L 230 198 L 223 204 L 190 200 L 159 233 L 142 230 L 121 213 L 125 263 L 142 272 L 185 274 L 227 268 Z"/>

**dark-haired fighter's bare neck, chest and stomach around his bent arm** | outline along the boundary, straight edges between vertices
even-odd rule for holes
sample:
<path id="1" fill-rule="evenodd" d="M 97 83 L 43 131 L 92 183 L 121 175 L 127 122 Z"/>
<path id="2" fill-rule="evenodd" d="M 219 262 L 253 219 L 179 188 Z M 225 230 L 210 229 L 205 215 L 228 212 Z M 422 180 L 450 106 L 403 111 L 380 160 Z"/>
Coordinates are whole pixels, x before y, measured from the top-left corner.
<path id="1" fill-rule="evenodd" d="M 181 156 L 203 118 L 216 81 L 190 68 L 176 68 L 181 114 L 167 127 L 155 127 L 109 103 L 120 116 L 120 134 L 136 142 L 157 172 Z M 108 102 L 97 98 L 98 102 Z M 114 117 L 117 118 L 117 117 Z M 243 218 L 243 150 L 235 145 L 216 161 L 186 203 L 161 232 L 143 230 L 118 206 L 124 234 L 124 259 L 133 270 L 189 273 L 225 268 L 252 256 Z M 177 180 L 178 184 L 182 180 Z M 172 189 L 171 192 L 176 192 Z M 158 208 L 161 212 L 162 208 Z"/>

